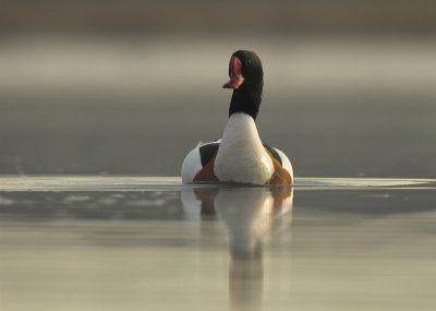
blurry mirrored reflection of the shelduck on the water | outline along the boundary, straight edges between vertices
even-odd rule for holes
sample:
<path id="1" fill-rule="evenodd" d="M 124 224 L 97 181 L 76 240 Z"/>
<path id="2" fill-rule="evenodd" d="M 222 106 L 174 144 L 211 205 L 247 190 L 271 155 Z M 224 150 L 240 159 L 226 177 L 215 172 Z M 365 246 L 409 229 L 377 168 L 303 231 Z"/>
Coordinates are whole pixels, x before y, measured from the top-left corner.
<path id="1" fill-rule="evenodd" d="M 230 236 L 230 300 L 234 310 L 261 308 L 263 241 L 271 216 L 292 208 L 293 191 L 280 188 L 196 188 L 182 191 L 190 216 L 217 214 Z"/>

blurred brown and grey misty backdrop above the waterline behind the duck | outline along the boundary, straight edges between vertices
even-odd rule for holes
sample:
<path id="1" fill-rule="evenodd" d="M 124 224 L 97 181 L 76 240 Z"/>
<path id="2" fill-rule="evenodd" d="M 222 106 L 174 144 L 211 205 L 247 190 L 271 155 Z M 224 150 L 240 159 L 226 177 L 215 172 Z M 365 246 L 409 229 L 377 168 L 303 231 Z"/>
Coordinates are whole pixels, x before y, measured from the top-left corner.
<path id="1" fill-rule="evenodd" d="M 228 118 L 233 51 L 298 177 L 436 175 L 434 1 L 0 3 L 0 174 L 178 176 Z"/>

